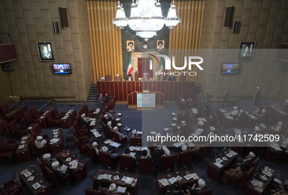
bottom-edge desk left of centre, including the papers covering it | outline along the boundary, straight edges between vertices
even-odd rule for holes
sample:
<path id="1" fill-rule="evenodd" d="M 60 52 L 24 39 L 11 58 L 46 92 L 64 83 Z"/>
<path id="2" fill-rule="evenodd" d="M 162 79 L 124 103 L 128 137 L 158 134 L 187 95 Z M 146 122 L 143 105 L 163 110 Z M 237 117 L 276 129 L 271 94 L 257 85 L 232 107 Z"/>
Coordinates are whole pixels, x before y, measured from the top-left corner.
<path id="1" fill-rule="evenodd" d="M 125 191 L 130 192 L 131 195 L 137 195 L 138 193 L 138 176 L 134 174 L 98 169 L 98 172 L 93 179 L 98 180 L 101 185 L 110 185 L 115 183 L 117 187 L 120 186 L 126 188 Z"/>

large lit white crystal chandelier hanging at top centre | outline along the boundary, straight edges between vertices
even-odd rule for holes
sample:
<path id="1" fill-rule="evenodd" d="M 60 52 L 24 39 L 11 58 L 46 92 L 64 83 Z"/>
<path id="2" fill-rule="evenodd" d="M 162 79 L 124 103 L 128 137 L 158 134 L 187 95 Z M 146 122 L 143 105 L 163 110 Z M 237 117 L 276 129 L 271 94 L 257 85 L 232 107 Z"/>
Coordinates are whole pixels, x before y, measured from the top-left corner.
<path id="1" fill-rule="evenodd" d="M 157 35 L 156 31 L 161 30 L 164 24 L 169 28 L 173 28 L 181 21 L 176 15 L 174 0 L 167 17 L 162 16 L 159 0 L 158 2 L 156 0 L 136 0 L 136 3 L 133 0 L 129 18 L 126 18 L 122 6 L 118 1 L 116 18 L 112 21 L 113 24 L 119 26 L 120 29 L 129 25 L 132 30 L 136 31 L 136 35 L 145 39 Z"/>

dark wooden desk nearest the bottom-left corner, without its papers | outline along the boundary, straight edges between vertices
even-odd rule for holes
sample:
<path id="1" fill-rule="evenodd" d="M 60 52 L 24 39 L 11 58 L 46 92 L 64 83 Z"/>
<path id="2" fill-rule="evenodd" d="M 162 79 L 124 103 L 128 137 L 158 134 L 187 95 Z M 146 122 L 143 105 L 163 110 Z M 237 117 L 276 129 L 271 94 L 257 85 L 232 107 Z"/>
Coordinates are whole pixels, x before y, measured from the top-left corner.
<path id="1" fill-rule="evenodd" d="M 34 176 L 34 179 L 32 181 L 27 180 L 29 176 L 28 177 L 24 176 L 24 173 L 28 171 L 32 174 L 31 176 Z M 44 176 L 40 175 L 34 169 L 34 167 L 29 167 L 23 172 L 20 172 L 19 178 L 22 186 L 27 186 L 32 191 L 33 195 L 51 195 L 50 184 L 46 181 Z M 34 185 L 37 182 L 40 184 L 40 187 L 35 189 L 32 185 Z"/>

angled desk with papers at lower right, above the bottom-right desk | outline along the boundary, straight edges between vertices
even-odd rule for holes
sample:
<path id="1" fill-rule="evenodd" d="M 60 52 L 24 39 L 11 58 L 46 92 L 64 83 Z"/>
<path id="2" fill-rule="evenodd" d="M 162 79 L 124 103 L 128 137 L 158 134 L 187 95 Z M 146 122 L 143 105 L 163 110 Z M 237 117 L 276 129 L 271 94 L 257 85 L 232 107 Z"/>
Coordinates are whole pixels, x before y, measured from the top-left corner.
<path id="1" fill-rule="evenodd" d="M 207 176 L 219 181 L 223 171 L 237 160 L 238 154 L 230 149 L 225 149 L 222 154 L 214 157 L 208 164 Z"/>

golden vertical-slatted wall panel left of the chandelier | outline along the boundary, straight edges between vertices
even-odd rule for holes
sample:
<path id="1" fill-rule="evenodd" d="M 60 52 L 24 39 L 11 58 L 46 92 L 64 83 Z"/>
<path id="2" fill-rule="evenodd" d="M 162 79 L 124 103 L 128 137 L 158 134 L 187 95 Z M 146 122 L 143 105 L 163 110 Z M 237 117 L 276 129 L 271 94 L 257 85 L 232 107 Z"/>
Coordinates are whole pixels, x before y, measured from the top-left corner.
<path id="1" fill-rule="evenodd" d="M 87 0 L 94 80 L 123 72 L 121 29 L 111 22 L 116 7 L 117 1 Z"/>

